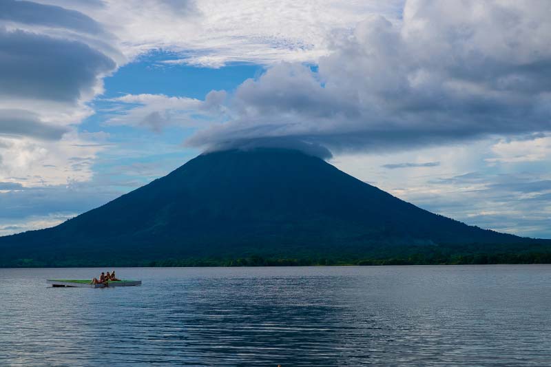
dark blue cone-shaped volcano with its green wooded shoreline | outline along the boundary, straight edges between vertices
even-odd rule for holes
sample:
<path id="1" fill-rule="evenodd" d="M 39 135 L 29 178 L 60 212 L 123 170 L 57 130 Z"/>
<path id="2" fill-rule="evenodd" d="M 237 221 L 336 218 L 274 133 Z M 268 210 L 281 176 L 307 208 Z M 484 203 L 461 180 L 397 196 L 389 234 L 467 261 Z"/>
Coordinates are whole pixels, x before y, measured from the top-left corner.
<path id="1" fill-rule="evenodd" d="M 551 263 L 551 240 L 430 213 L 301 151 L 202 154 L 39 231 L 0 238 L 1 267 Z"/>

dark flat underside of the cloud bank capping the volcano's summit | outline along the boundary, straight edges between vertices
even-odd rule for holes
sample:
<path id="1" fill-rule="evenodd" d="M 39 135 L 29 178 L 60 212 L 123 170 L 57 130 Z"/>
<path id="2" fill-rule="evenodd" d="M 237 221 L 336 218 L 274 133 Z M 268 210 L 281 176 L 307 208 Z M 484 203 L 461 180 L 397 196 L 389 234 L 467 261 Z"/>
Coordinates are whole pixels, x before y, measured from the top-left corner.
<path id="1" fill-rule="evenodd" d="M 284 120 L 287 116 L 283 116 Z M 306 120 L 296 117 L 297 122 L 276 123 L 270 119 L 264 123 L 233 121 L 226 125 L 219 125 L 202 130 L 185 140 L 185 145 L 190 147 L 207 147 L 207 150 L 220 150 L 231 146 L 261 145 L 264 141 L 275 142 L 281 140 L 280 145 L 316 145 L 333 153 L 346 151 L 399 151 L 413 149 L 427 145 L 442 145 L 444 143 L 464 142 L 485 138 L 494 134 L 524 134 L 526 129 L 522 125 L 511 126 L 510 129 L 490 129 L 486 126 L 474 126 L 472 129 L 453 128 L 443 129 L 436 127 L 414 126 L 403 127 L 392 123 L 375 123 L 369 127 L 357 126 L 357 130 L 351 127 L 353 123 L 362 123 L 357 120 Z M 258 122 L 258 123 L 256 123 Z M 324 123 L 326 123 L 324 125 Z M 470 123 L 469 123 L 470 124 Z M 251 126 L 253 125 L 253 126 Z M 326 131 L 318 128 L 324 125 Z M 547 127 L 534 127 L 539 131 L 548 130 Z M 310 131 L 308 131 L 310 130 Z M 321 131 L 320 131 L 321 130 Z M 528 130 L 530 131 L 530 130 Z M 258 143 L 252 143 L 257 140 Z M 291 143 L 293 142 L 293 143 Z M 271 144 L 273 145 L 273 143 Z"/>

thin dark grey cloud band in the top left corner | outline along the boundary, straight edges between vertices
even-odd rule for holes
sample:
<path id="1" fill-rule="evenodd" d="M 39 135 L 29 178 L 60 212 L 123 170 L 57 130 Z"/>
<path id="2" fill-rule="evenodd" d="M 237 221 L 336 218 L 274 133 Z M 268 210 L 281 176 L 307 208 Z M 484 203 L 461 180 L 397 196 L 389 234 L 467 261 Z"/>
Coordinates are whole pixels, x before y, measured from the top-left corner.
<path id="1" fill-rule="evenodd" d="M 81 12 L 31 1 L 0 1 L 0 20 L 98 34 L 101 25 Z"/>

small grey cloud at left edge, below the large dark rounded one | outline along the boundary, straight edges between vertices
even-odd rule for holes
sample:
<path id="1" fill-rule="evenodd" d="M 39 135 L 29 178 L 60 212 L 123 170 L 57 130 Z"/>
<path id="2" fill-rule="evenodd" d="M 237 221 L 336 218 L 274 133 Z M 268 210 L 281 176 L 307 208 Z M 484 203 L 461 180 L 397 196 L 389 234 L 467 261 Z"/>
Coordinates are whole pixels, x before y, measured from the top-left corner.
<path id="1" fill-rule="evenodd" d="M 68 131 L 67 127 L 42 123 L 37 114 L 29 111 L 0 109 L 0 135 L 59 140 Z"/>

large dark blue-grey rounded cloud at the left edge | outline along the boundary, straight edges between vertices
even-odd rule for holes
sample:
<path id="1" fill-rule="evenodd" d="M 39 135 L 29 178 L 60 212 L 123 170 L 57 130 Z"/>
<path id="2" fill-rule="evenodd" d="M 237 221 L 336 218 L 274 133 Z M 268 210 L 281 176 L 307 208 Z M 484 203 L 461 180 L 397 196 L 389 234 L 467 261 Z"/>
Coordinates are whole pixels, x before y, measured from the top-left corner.
<path id="1" fill-rule="evenodd" d="M 0 28 L 0 96 L 76 103 L 115 67 L 85 43 Z"/>

